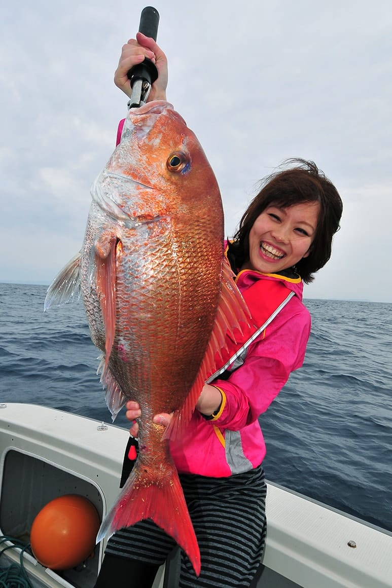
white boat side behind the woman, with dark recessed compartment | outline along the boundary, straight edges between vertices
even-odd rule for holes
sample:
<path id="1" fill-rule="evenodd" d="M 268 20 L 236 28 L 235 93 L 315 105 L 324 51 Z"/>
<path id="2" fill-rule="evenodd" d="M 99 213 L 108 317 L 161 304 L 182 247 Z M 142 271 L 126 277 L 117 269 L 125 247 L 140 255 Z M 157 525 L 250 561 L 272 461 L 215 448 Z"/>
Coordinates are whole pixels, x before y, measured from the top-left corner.
<path id="1" fill-rule="evenodd" d="M 67 493 L 87 496 L 104 517 L 119 492 L 127 430 L 102 430 L 95 420 L 38 405 L 2 406 L 0 533 L 28 536 L 42 506 Z M 392 587 L 391 533 L 271 483 L 267 520 L 264 567 L 254 588 Z M 103 552 L 101 544 L 84 568 L 63 574 L 25 554 L 25 569 L 36 588 L 92 588 Z M 19 560 L 16 549 L 5 555 Z M 171 559 L 154 588 L 174 588 Z"/>

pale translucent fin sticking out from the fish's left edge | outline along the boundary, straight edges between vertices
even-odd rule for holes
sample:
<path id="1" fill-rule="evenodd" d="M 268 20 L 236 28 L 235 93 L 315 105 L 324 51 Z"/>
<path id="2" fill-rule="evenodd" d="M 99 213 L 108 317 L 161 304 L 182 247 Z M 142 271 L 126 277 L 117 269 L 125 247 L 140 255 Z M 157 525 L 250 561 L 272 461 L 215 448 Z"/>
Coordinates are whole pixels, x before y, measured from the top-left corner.
<path id="1" fill-rule="evenodd" d="M 61 306 L 80 298 L 79 268 L 80 252 L 62 268 L 49 286 L 45 297 L 44 312 L 51 306 Z"/>

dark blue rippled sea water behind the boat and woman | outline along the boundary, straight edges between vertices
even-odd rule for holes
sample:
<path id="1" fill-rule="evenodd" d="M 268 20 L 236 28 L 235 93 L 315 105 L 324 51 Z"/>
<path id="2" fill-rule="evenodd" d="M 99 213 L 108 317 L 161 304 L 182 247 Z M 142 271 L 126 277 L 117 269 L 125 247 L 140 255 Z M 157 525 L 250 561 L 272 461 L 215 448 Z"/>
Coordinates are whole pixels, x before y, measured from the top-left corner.
<path id="1" fill-rule="evenodd" d="M 0 402 L 110 422 L 82 303 L 44 313 L 45 292 L 0 283 Z M 304 366 L 260 417 L 267 479 L 392 532 L 392 305 L 304 302 Z"/>

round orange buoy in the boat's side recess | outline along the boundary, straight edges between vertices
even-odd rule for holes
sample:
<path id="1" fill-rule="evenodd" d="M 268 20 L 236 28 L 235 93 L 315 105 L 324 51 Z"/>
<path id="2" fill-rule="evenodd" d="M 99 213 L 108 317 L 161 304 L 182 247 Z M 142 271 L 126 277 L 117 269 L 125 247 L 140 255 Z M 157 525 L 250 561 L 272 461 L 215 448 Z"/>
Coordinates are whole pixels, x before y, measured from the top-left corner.
<path id="1" fill-rule="evenodd" d="M 91 555 L 98 529 L 97 509 L 87 498 L 59 496 L 36 515 L 31 526 L 31 549 L 42 566 L 67 570 Z"/>

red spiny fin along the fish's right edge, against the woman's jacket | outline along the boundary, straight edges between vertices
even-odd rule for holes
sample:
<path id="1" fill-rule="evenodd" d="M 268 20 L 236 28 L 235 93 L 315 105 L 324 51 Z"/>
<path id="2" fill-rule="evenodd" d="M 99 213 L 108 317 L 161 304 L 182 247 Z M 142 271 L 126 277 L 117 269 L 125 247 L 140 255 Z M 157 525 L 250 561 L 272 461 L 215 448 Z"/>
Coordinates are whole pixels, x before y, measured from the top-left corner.
<path id="1" fill-rule="evenodd" d="M 177 439 L 181 437 L 191 419 L 205 381 L 220 367 L 222 350 L 227 351 L 227 333 L 230 333 L 235 341 L 235 331 L 242 334 L 241 323 L 243 326 L 250 326 L 250 320 L 251 314 L 234 282 L 234 273 L 227 259 L 223 258 L 221 295 L 210 341 L 190 393 L 181 409 L 174 413 L 164 438 Z"/>

